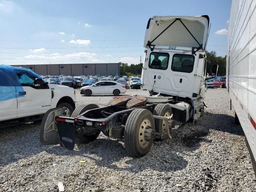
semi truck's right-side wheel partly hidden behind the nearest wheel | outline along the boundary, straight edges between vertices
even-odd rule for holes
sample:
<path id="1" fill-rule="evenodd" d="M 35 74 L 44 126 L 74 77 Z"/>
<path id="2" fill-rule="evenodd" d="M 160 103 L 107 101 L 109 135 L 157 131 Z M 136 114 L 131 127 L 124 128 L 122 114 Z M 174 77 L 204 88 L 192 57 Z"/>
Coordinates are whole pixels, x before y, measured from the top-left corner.
<path id="1" fill-rule="evenodd" d="M 154 108 L 153 115 L 162 116 L 162 117 L 170 117 L 172 115 L 172 107 L 169 104 L 157 104 Z M 155 120 L 155 128 L 156 132 L 160 132 L 161 134 L 167 135 L 168 130 L 166 129 L 165 121 L 156 119 Z M 159 141 L 160 139 L 156 139 Z"/>

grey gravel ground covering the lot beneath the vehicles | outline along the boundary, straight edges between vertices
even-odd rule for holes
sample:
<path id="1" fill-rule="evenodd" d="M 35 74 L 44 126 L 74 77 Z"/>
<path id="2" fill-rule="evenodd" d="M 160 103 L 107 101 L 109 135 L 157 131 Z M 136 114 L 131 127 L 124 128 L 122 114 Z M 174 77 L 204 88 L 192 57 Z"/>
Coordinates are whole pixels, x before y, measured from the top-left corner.
<path id="1" fill-rule="evenodd" d="M 143 90 L 126 94 L 148 95 Z M 112 96 L 80 96 L 82 103 L 106 105 Z M 142 158 L 131 158 L 119 139 L 103 134 L 69 151 L 41 146 L 40 123 L 0 130 L 0 192 L 164 192 L 256 191 L 242 128 L 234 124 L 226 89 L 209 89 L 208 108 L 196 124 L 172 130 Z M 84 160 L 85 163 L 80 163 Z"/>

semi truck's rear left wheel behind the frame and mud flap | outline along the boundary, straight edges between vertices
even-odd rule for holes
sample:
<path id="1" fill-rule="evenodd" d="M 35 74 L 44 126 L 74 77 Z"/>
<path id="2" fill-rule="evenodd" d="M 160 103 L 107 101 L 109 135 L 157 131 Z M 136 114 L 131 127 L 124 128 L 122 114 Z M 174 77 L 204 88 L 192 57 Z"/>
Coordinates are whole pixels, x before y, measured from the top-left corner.
<path id="1" fill-rule="evenodd" d="M 71 117 L 77 117 L 78 115 L 82 114 L 83 112 L 86 112 L 87 110 L 96 109 L 96 108 L 99 108 L 99 106 L 96 104 L 82 104 L 74 110 Z M 93 131 L 88 130 L 88 132 L 86 133 L 76 132 L 76 140 L 80 143 L 89 143 L 96 140 L 99 134 L 100 134 L 100 130 L 97 130 L 97 129 Z"/>

